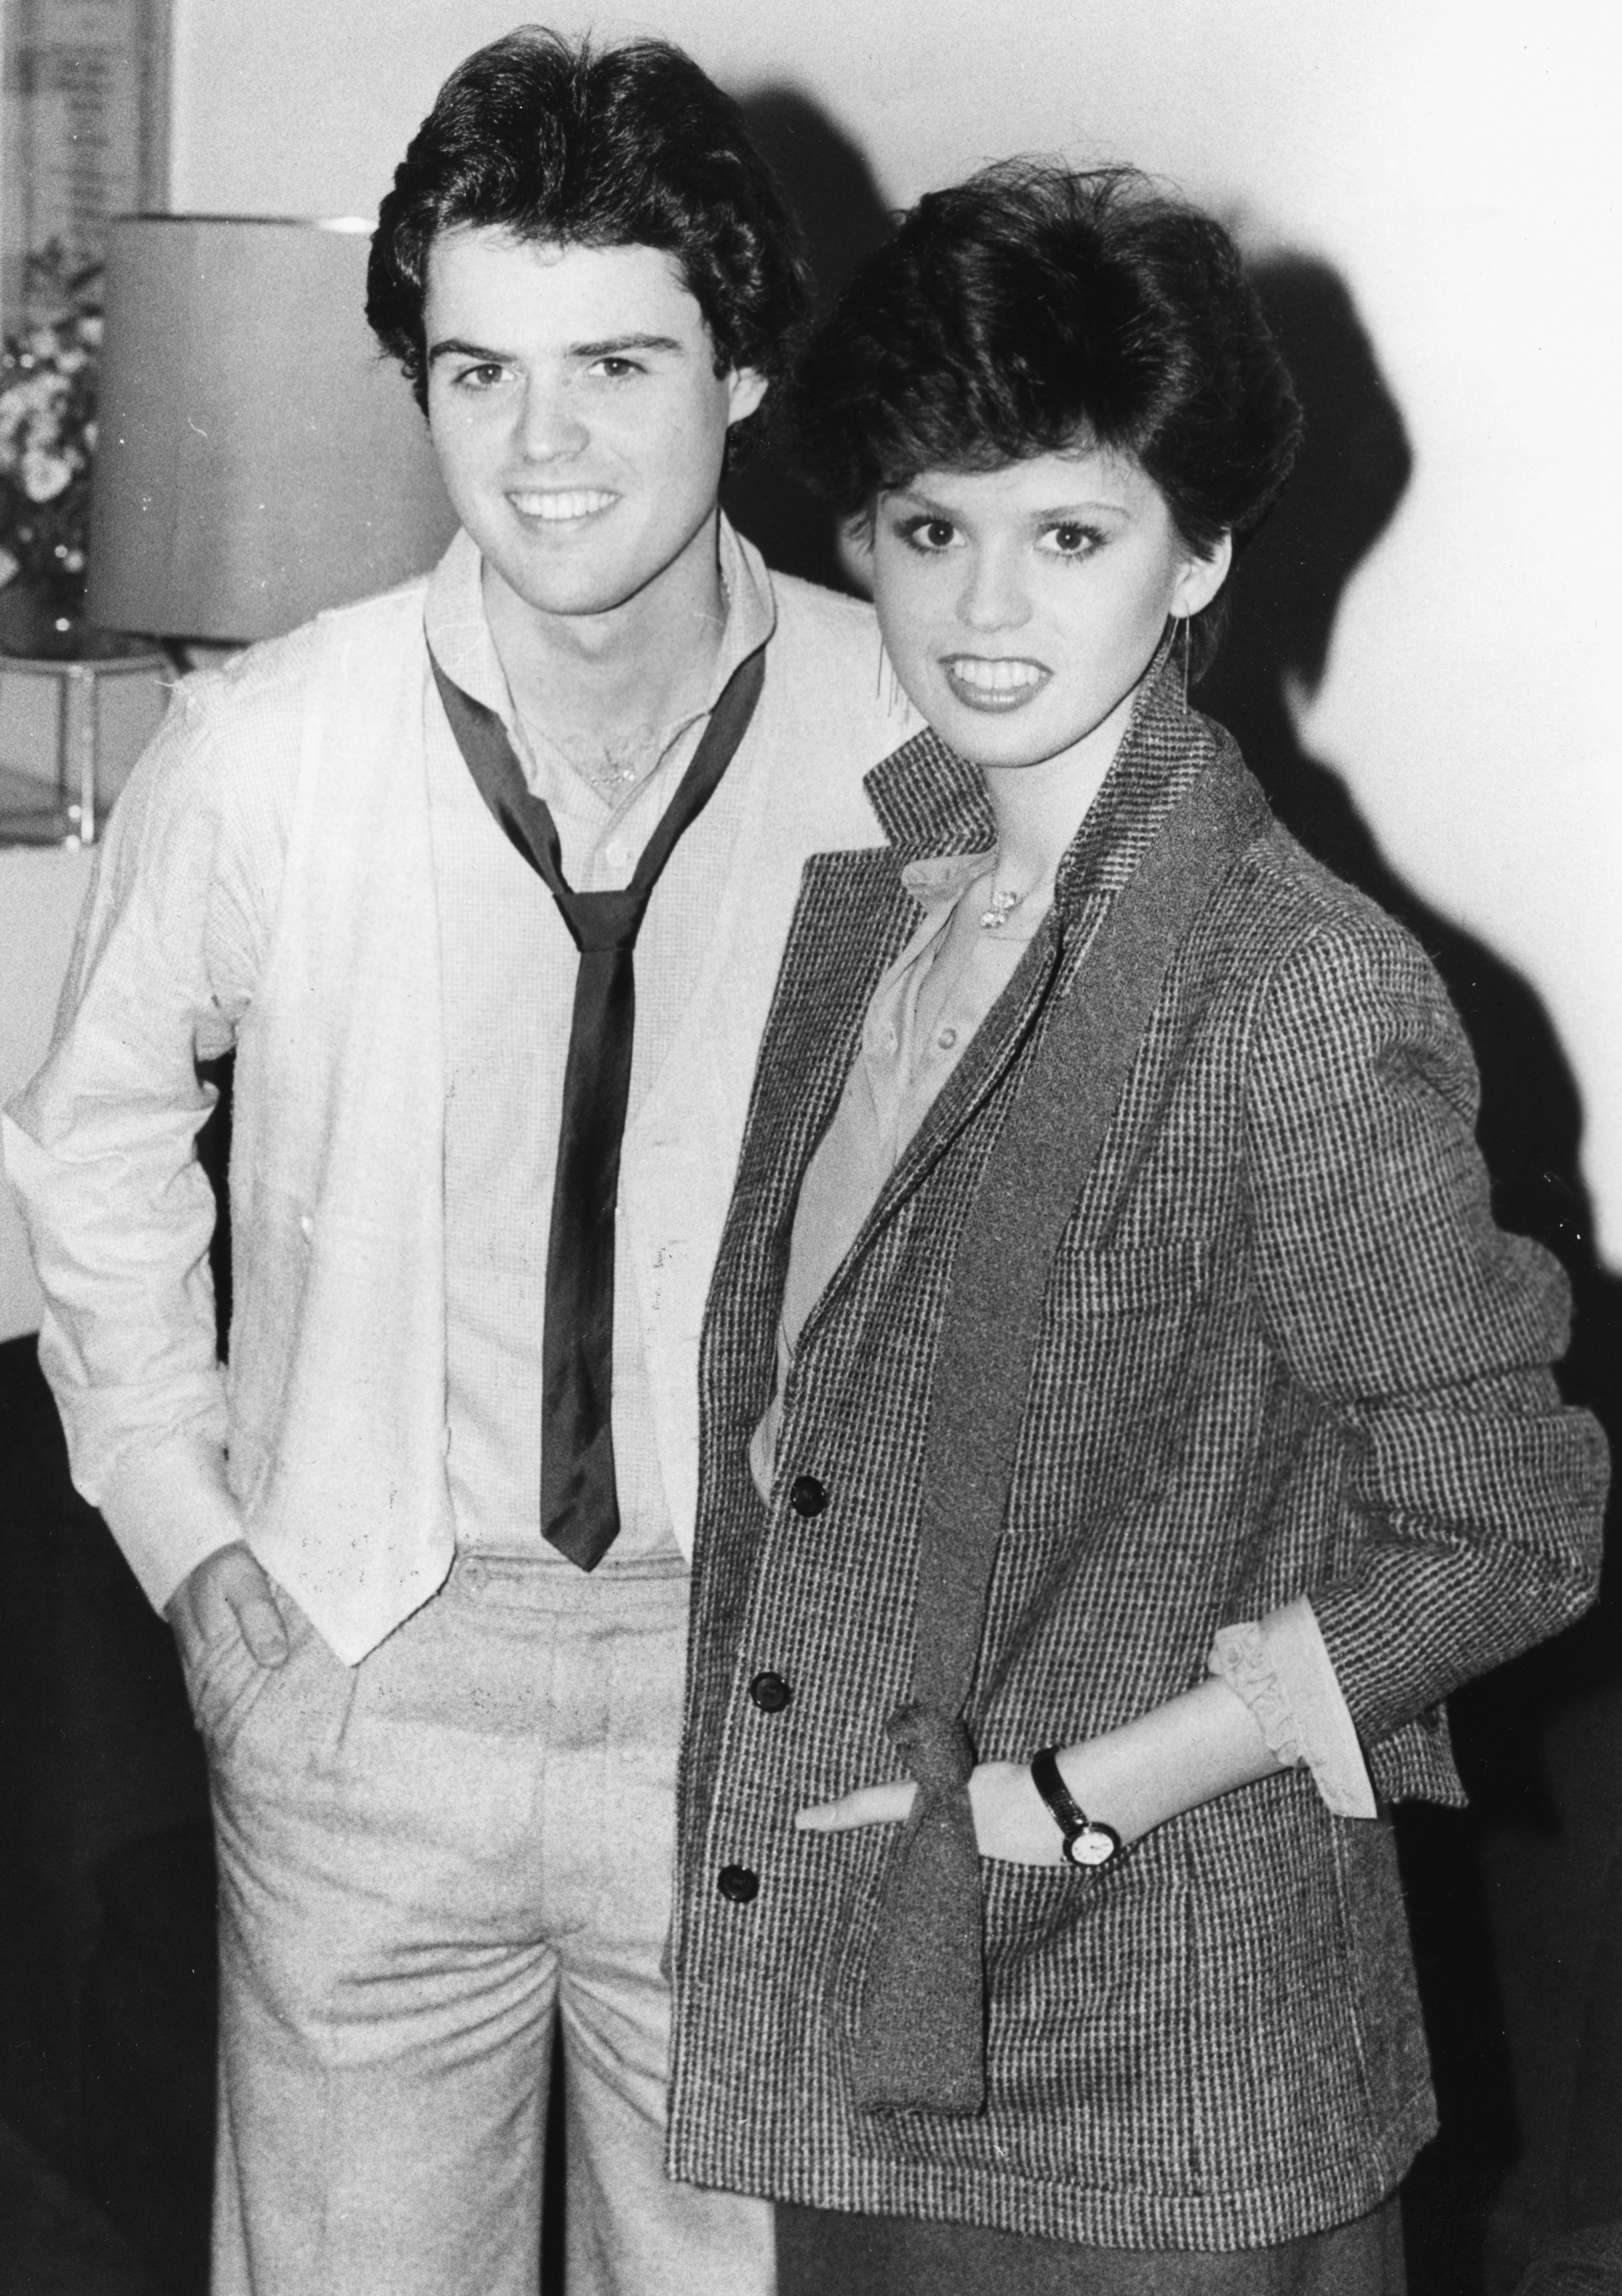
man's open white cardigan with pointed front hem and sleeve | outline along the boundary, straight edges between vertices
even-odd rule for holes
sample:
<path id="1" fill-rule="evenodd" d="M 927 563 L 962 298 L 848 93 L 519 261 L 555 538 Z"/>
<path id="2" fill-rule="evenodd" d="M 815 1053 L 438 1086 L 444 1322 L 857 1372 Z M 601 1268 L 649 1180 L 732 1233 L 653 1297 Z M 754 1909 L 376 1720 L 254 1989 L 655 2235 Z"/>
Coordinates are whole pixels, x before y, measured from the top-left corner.
<path id="1" fill-rule="evenodd" d="M 619 1180 L 619 1254 L 642 1302 L 658 1460 L 688 1550 L 704 1295 L 801 866 L 817 850 L 881 843 L 863 774 L 913 730 L 879 700 L 872 613 L 746 556 L 775 592 L 775 631 L 730 767 L 741 804 L 727 893 L 677 1042 L 626 1130 Z M 181 1031 L 179 994 L 177 1024 L 158 1052 L 147 1045 L 161 1038 L 151 999 L 165 996 L 165 852 L 188 833 L 174 792 L 165 810 L 165 760 L 138 769 L 119 808 L 57 1042 L 5 1134 L 73 1474 L 149 1598 L 165 1605 L 204 1554 L 248 1538 L 349 1662 L 436 1591 L 454 1554 L 445 1047 L 422 735 L 438 703 L 422 599 L 424 583 L 411 583 L 323 615 L 186 700 L 211 753 L 229 760 L 234 714 L 287 675 L 294 654 L 278 650 L 298 650 L 284 859 L 236 1029 L 227 1382 L 197 1274 L 209 1210 L 193 1137 L 206 1097 L 190 1075 L 193 1054 L 220 1045 L 195 1010 Z M 174 742 L 170 778 L 172 753 Z M 255 801 L 264 810 L 262 792 L 243 792 L 243 817 Z M 229 785 L 218 810 L 216 836 L 229 838 Z M 142 914 L 158 928 L 131 983 Z"/>

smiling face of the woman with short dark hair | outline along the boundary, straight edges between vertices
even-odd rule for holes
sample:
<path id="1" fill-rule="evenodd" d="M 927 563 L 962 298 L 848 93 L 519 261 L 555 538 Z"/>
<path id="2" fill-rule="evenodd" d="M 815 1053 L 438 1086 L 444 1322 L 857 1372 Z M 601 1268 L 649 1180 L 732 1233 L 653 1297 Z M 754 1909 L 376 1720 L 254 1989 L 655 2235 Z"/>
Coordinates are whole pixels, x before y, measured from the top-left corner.
<path id="1" fill-rule="evenodd" d="M 1005 471 L 925 471 L 881 494 L 872 576 L 895 673 L 982 767 L 1042 765 L 1124 707 L 1168 615 L 1227 574 L 1198 558 L 1131 455 L 1083 448 Z"/>

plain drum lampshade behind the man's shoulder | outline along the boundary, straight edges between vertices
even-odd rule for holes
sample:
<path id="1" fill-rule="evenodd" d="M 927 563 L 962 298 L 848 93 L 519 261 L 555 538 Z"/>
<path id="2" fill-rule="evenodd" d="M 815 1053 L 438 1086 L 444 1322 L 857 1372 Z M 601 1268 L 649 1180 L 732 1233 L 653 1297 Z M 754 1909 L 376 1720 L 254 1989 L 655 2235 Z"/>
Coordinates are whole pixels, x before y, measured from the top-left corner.
<path id="1" fill-rule="evenodd" d="M 367 225 L 112 225 L 89 615 L 248 641 L 429 567 L 427 425 L 365 324 Z"/>

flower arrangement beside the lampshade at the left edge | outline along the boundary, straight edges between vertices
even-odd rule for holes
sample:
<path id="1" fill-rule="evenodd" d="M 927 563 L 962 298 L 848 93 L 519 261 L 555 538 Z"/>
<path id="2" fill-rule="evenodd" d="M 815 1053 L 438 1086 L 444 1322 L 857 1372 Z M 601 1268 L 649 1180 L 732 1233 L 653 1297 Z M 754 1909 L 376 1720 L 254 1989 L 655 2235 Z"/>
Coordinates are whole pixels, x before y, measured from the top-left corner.
<path id="1" fill-rule="evenodd" d="M 0 595 L 32 592 L 71 638 L 85 599 L 89 464 L 96 450 L 101 264 L 60 246 L 28 257 L 30 321 L 0 349 Z"/>

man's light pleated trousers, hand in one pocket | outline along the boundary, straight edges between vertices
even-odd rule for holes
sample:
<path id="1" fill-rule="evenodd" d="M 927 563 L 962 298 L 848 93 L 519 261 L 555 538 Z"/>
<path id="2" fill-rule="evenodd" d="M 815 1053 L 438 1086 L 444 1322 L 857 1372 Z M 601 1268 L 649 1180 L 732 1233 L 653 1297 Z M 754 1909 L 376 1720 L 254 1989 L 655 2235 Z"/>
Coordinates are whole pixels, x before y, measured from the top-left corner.
<path id="1" fill-rule="evenodd" d="M 184 1649 L 220 1853 L 213 2296 L 771 2296 L 764 2202 L 663 2174 L 686 1573 L 463 1557 L 360 1667 Z"/>

